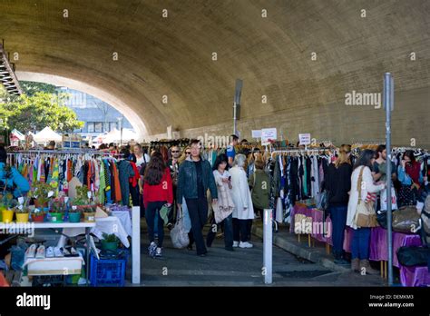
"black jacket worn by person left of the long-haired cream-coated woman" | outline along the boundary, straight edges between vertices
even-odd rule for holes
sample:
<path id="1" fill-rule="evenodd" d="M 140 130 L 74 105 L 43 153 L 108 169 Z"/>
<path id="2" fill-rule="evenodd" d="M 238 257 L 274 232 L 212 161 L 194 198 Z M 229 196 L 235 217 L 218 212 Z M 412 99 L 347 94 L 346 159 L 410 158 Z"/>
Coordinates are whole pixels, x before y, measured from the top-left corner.
<path id="1" fill-rule="evenodd" d="M 327 169 L 326 189 L 328 190 L 328 206 L 346 206 L 351 190 L 352 165 L 342 163 L 335 166 L 330 163 Z"/>

